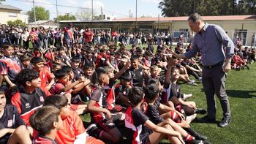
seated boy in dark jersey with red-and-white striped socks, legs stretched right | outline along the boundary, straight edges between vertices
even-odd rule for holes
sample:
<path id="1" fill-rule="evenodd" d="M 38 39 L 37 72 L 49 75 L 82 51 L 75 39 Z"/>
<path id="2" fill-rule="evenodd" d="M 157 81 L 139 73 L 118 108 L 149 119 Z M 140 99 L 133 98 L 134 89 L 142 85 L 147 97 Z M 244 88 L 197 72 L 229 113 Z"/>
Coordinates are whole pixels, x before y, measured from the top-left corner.
<path id="1" fill-rule="evenodd" d="M 146 115 L 149 120 L 152 121 L 156 125 L 161 125 L 162 123 L 170 124 L 177 132 L 180 132 L 182 137 L 184 137 L 184 141 L 187 143 L 201 143 L 201 140 L 206 140 L 207 137 L 198 134 L 189 126 L 184 128 L 187 132 L 181 128 L 178 124 L 181 124 L 181 118 L 176 114 L 176 110 L 172 110 L 170 107 L 162 105 L 159 103 L 159 88 L 156 84 L 150 84 L 145 88 L 146 95 Z M 164 111 L 162 115 L 159 114 L 159 109 Z M 176 122 L 178 122 L 176 124 Z M 188 133 L 189 132 L 189 133 Z M 193 136 L 193 137 L 192 137 Z"/>

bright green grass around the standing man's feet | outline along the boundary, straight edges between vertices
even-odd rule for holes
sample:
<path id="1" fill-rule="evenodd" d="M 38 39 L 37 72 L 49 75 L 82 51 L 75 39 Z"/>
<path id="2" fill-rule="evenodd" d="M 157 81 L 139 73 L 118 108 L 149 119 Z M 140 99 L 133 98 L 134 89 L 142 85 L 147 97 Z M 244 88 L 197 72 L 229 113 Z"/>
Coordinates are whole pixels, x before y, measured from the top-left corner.
<path id="1" fill-rule="evenodd" d="M 128 46 L 129 48 L 130 46 Z M 255 143 L 253 141 L 256 136 L 256 63 L 250 64 L 249 67 L 249 70 L 232 70 L 227 73 L 226 89 L 232 115 L 230 126 L 219 128 L 217 124 L 191 124 L 195 131 L 206 135 L 213 144 Z M 200 83 L 197 86 L 181 84 L 181 90 L 184 94 L 193 94 L 189 100 L 195 101 L 197 107 L 206 108 L 206 96 L 202 92 L 202 88 Z M 216 102 L 217 121 L 221 121 L 222 108 L 217 97 Z M 197 117 L 200 116 L 197 115 Z M 85 122 L 90 121 L 89 114 L 82 118 Z M 168 143 L 168 141 L 162 140 L 161 143 Z"/>

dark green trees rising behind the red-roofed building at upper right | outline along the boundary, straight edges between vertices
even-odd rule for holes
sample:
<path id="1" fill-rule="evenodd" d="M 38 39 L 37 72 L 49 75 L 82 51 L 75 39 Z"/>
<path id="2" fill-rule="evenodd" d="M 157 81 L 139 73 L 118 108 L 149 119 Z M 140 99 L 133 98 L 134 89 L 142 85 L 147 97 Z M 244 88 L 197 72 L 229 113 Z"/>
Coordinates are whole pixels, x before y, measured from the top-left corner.
<path id="1" fill-rule="evenodd" d="M 165 17 L 200 15 L 255 15 L 256 0 L 163 0 L 159 9 Z"/>

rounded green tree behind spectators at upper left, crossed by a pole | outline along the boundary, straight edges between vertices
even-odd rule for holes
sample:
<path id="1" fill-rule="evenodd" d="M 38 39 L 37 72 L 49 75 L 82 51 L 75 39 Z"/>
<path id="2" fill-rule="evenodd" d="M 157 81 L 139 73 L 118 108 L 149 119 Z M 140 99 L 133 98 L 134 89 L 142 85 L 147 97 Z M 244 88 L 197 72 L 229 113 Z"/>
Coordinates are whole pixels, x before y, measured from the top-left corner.
<path id="1" fill-rule="evenodd" d="M 36 10 L 36 20 L 49 20 L 50 12 L 49 10 L 45 10 L 44 7 L 34 7 Z M 34 22 L 34 8 L 31 8 L 30 11 L 26 12 L 29 15 L 29 23 Z"/>

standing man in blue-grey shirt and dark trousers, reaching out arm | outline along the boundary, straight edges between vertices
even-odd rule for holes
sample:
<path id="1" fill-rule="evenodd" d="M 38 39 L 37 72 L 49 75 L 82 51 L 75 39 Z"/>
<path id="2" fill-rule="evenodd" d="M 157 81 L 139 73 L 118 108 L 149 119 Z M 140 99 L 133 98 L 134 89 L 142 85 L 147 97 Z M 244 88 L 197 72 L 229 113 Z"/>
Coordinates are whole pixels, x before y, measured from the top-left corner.
<path id="1" fill-rule="evenodd" d="M 173 53 L 178 58 L 192 58 L 200 50 L 203 62 L 203 88 L 206 94 L 208 115 L 200 118 L 201 122 L 215 122 L 216 103 L 214 94 L 222 106 L 223 118 L 219 126 L 230 124 L 230 103 L 225 91 L 225 72 L 229 72 L 234 44 L 225 31 L 213 24 L 204 23 L 197 13 L 189 16 L 189 27 L 195 34 L 192 50 L 184 54 Z M 226 48 L 224 50 L 222 45 Z"/>

